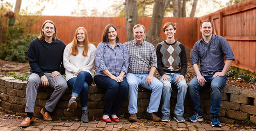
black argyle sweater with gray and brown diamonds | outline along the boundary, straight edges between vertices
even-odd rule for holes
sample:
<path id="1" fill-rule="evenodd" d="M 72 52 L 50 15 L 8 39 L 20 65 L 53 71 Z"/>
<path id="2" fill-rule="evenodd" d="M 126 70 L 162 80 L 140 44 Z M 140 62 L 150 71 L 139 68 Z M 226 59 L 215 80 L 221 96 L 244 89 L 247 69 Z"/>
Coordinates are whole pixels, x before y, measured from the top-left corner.
<path id="1" fill-rule="evenodd" d="M 185 76 L 187 72 L 187 54 L 185 46 L 175 41 L 172 44 L 162 41 L 156 47 L 156 56 L 158 59 L 158 72 L 165 75 L 167 73 L 180 72 Z"/>

